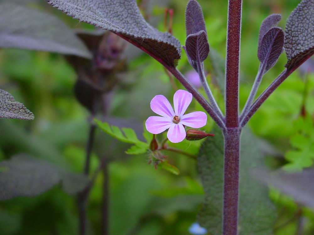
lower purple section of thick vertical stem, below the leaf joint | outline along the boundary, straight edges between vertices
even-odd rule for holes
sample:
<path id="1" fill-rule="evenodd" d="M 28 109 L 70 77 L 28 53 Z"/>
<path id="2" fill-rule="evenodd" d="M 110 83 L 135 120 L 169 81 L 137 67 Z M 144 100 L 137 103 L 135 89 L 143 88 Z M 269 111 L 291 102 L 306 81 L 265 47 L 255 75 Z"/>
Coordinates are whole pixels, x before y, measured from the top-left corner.
<path id="1" fill-rule="evenodd" d="M 228 128 L 225 137 L 223 235 L 237 235 L 241 128 Z"/>

